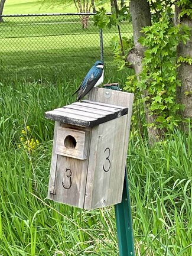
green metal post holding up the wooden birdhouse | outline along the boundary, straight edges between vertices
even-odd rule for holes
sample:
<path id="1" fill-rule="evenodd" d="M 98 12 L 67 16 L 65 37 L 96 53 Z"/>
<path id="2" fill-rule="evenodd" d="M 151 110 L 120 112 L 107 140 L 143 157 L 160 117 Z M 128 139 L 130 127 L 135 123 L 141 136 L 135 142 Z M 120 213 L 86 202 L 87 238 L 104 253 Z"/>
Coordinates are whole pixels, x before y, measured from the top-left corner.
<path id="1" fill-rule="evenodd" d="M 104 85 L 103 88 L 120 90 L 118 83 Z M 118 233 L 119 256 L 135 256 L 127 168 L 125 168 L 122 202 L 115 205 L 115 217 Z"/>

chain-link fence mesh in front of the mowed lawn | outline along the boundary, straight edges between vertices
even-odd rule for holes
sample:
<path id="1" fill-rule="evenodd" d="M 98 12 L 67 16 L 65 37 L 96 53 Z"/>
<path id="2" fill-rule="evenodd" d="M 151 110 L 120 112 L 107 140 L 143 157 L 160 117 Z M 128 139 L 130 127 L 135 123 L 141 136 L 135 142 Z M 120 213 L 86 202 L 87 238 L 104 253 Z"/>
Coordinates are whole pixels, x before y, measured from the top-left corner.
<path id="1" fill-rule="evenodd" d="M 116 27 L 103 31 L 93 22 L 94 14 L 2 15 L 0 61 L 9 66 L 82 63 L 103 54 L 112 59 L 111 39 Z M 122 35 L 132 36 L 132 24 L 123 22 Z M 92 61 L 92 62 L 93 62 Z"/>

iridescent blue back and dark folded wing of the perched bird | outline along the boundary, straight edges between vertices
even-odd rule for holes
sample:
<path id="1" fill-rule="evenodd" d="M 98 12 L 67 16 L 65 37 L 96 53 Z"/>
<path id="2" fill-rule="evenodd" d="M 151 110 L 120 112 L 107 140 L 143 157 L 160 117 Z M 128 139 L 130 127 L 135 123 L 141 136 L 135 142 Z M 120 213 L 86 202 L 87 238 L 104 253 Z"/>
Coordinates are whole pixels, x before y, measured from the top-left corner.
<path id="1" fill-rule="evenodd" d="M 79 101 L 85 95 L 87 95 L 87 93 L 95 86 L 96 82 L 102 76 L 102 73 L 103 73 L 103 69 L 95 68 L 94 71 L 90 69 L 86 77 L 84 77 L 82 85 L 77 90 L 78 91 L 77 101 Z"/>

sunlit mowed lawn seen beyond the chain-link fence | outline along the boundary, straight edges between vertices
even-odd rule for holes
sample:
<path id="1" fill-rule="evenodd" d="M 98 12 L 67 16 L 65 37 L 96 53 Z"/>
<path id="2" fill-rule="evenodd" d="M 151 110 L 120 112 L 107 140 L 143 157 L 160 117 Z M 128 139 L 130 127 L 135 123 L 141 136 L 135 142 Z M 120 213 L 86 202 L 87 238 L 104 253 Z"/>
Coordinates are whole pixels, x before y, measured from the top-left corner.
<path id="1" fill-rule="evenodd" d="M 76 12 L 74 5 L 50 7 L 39 1 L 13 1 L 5 4 L 4 14 L 38 14 Z M 5 17 L 0 24 L 0 61 L 5 66 L 36 66 L 39 64 L 82 63 L 100 59 L 99 28 L 89 19 L 82 28 L 80 16 Z M 129 22 L 122 24 L 123 35 L 132 36 Z M 103 31 L 105 61 L 112 61 L 110 42 L 118 35 L 115 27 Z"/>

